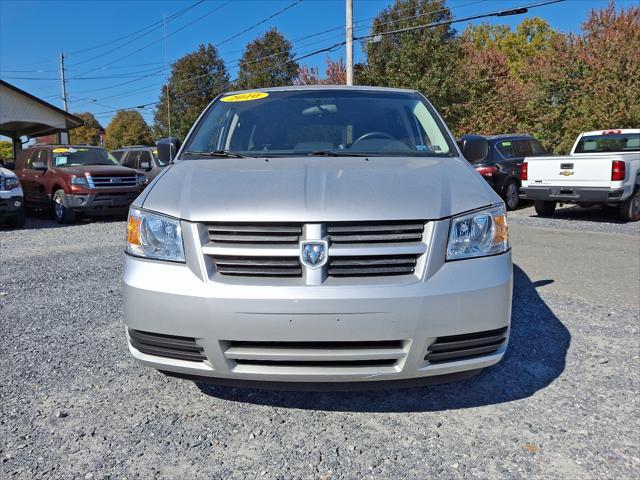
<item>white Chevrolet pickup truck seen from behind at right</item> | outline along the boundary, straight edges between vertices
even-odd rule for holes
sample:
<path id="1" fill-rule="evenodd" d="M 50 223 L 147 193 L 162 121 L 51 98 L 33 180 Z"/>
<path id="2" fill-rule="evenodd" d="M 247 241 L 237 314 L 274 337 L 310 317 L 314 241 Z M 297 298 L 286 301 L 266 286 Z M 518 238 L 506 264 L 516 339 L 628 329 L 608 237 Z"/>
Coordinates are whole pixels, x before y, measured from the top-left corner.
<path id="1" fill-rule="evenodd" d="M 558 203 L 601 204 L 640 220 L 640 129 L 581 133 L 568 156 L 525 158 L 520 180 L 520 198 L 534 200 L 538 215 Z"/>

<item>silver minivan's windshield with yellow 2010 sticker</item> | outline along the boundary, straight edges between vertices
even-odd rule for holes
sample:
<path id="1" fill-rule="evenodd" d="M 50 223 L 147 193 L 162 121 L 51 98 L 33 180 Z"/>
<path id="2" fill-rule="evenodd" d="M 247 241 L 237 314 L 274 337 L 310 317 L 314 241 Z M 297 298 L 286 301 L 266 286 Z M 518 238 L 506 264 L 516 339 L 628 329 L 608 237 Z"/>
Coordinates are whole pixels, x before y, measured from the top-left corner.
<path id="1" fill-rule="evenodd" d="M 183 158 L 455 152 L 444 125 L 417 93 L 292 89 L 222 96 L 196 126 Z"/>

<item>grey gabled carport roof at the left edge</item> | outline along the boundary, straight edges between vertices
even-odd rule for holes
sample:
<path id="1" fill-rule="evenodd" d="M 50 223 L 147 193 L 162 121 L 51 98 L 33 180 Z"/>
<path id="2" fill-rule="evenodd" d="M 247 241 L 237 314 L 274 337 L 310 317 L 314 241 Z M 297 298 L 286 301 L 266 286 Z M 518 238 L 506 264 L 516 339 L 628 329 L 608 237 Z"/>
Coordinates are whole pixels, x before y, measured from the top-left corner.
<path id="1" fill-rule="evenodd" d="M 0 80 L 0 135 L 35 137 L 82 125 L 81 118 Z"/>

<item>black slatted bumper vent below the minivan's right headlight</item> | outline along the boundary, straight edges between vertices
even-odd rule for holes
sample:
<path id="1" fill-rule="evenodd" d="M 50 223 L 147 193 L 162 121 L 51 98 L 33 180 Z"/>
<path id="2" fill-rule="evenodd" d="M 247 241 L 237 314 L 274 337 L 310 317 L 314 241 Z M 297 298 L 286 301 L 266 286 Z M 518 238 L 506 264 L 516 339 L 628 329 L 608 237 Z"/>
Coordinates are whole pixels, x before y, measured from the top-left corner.
<path id="1" fill-rule="evenodd" d="M 507 327 L 484 332 L 438 337 L 429 346 L 429 363 L 455 362 L 497 352 L 506 340 Z"/>

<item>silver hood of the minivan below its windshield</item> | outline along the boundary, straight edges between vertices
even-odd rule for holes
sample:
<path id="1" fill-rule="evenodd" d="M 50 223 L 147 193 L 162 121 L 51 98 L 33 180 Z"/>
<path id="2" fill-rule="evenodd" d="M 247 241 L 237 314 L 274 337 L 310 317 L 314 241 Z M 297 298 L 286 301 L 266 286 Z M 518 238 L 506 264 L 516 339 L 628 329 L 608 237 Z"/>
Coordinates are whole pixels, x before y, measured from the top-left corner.
<path id="1" fill-rule="evenodd" d="M 195 222 L 436 219 L 499 201 L 458 158 L 183 160 L 147 192 L 145 209 Z"/>

